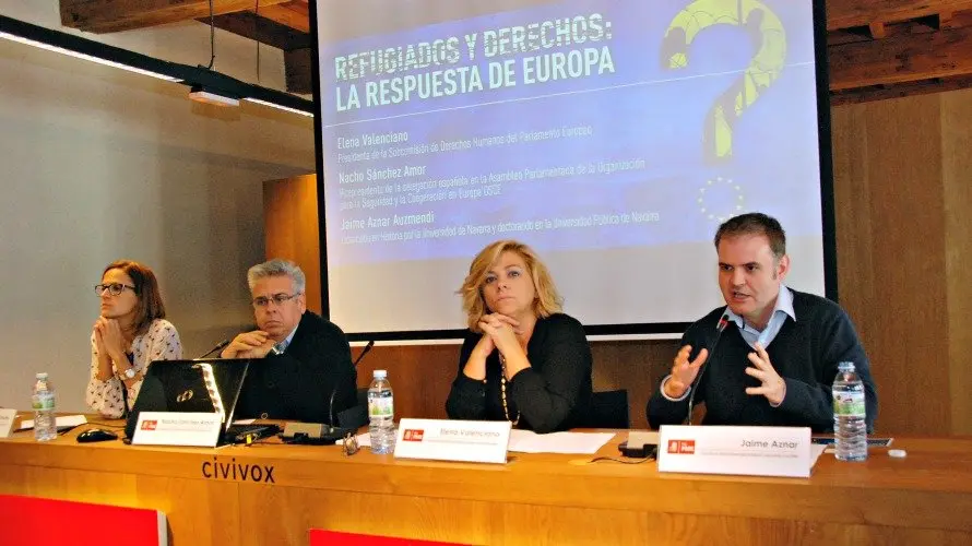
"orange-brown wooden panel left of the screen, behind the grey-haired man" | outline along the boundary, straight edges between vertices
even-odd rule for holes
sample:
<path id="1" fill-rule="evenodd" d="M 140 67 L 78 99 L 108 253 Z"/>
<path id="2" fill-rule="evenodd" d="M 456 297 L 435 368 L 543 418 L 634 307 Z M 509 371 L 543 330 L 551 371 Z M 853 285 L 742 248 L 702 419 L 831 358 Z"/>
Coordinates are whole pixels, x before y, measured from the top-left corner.
<path id="1" fill-rule="evenodd" d="M 286 258 L 307 275 L 307 308 L 321 312 L 321 242 L 317 222 L 317 177 L 263 182 L 266 258 Z"/>

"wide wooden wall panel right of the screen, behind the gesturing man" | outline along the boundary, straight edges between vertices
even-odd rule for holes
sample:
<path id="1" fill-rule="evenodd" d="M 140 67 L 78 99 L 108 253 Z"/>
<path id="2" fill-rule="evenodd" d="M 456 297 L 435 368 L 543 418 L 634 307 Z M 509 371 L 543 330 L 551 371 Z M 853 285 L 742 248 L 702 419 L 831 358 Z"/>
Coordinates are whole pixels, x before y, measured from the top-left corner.
<path id="1" fill-rule="evenodd" d="M 879 430 L 950 431 L 939 100 L 833 109 L 841 304 L 874 368 Z"/>

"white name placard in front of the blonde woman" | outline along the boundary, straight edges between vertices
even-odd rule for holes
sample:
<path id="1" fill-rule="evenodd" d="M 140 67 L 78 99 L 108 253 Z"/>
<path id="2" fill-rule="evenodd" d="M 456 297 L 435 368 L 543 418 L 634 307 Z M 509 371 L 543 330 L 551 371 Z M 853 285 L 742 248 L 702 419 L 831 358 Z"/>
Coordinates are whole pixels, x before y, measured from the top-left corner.
<path id="1" fill-rule="evenodd" d="M 395 458 L 502 464 L 511 428 L 508 420 L 402 419 Z"/>

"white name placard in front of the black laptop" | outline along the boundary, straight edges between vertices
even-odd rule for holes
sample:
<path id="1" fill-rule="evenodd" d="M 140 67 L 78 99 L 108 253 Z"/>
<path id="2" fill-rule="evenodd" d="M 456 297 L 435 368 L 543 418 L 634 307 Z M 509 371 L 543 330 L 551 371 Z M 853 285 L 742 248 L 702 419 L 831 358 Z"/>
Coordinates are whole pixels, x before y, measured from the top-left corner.
<path id="1" fill-rule="evenodd" d="M 217 413 L 142 412 L 132 443 L 214 448 L 223 419 Z"/>

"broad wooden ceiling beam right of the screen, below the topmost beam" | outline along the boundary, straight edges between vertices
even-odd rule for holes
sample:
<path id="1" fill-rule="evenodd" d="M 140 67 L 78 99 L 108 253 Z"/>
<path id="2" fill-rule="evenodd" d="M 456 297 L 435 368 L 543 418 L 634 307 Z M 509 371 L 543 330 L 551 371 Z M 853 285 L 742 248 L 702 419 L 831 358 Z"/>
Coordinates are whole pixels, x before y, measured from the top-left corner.
<path id="1" fill-rule="evenodd" d="M 828 48 L 830 90 L 972 74 L 972 27 Z"/>

